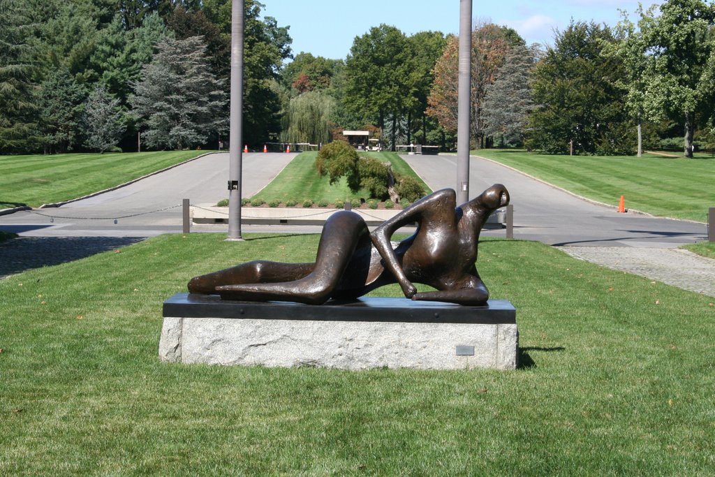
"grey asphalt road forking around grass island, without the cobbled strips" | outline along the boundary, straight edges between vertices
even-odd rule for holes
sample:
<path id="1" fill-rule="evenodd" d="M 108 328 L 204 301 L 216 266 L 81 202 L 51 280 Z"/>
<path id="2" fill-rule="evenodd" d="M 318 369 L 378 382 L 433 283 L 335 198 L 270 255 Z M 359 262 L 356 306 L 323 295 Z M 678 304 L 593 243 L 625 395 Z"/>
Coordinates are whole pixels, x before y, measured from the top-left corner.
<path id="1" fill-rule="evenodd" d="M 264 187 L 295 154 L 249 153 L 243 155 L 243 196 Z M 453 155 L 404 155 L 403 158 L 425 182 L 437 190 L 454 187 L 456 157 Z M 228 154 L 210 154 L 127 187 L 56 209 L 18 212 L 0 217 L 0 230 L 25 232 L 34 236 L 124 236 L 148 237 L 177 232 L 181 227 L 181 200 L 192 205 L 214 205 L 227 197 Z M 598 245 L 630 247 L 676 247 L 706 240 L 706 226 L 694 222 L 668 220 L 614 209 L 580 200 L 524 174 L 472 157 L 470 195 L 495 182 L 511 192 L 516 238 L 539 240 L 550 245 Z M 614 197 L 613 202 L 616 202 Z M 162 212 L 146 212 L 172 207 Z M 42 214 L 42 215 L 39 215 Z M 50 222 L 46 215 L 54 215 Z M 132 217 L 125 217 L 132 216 Z M 81 217 L 61 218 L 61 217 Z M 114 217 L 119 217 L 114 224 Z M 87 219 L 94 220 L 87 220 Z M 102 219 L 102 220 L 99 220 Z M 223 227 L 225 228 L 225 227 Z M 222 230 L 220 226 L 194 226 L 193 230 Z M 245 226 L 246 231 L 275 230 L 273 227 Z M 295 232 L 320 230 L 294 226 Z M 503 235 L 503 231 L 485 232 Z"/>

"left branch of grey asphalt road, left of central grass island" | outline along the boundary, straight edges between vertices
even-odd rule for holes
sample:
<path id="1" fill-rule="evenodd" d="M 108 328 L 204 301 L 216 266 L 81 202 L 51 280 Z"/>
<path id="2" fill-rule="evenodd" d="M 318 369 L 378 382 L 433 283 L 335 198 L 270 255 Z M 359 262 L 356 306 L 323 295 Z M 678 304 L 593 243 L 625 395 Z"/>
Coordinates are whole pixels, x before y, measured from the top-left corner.
<path id="1" fill-rule="evenodd" d="M 243 154 L 242 196 L 249 197 L 265 187 L 295 155 Z M 189 199 L 192 205 L 210 206 L 227 198 L 228 171 L 227 153 L 209 154 L 127 187 L 59 208 L 1 216 L 0 230 L 70 237 L 151 237 L 180 232 L 182 199 Z M 161 211 L 153 212 L 157 210 Z"/>

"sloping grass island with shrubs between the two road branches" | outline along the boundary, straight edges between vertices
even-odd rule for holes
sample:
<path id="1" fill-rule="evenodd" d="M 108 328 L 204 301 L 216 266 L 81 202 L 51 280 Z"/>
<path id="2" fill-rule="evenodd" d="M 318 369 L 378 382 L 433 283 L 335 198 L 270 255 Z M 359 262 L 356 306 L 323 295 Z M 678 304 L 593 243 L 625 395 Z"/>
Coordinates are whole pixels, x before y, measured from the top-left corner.
<path id="1" fill-rule="evenodd" d="M 394 152 L 363 152 L 361 155 L 375 157 L 382 162 L 390 162 L 395 174 L 410 175 L 423 185 L 425 192 L 431 192 L 425 182 L 403 159 L 400 159 L 398 154 Z M 320 177 L 315 169 L 315 156 L 317 156 L 317 152 L 298 154 L 265 189 L 252 198 L 262 199 L 266 202 L 280 200 L 284 203 L 287 200 L 295 200 L 300 203 L 305 199 L 333 203 L 336 200 L 349 200 L 354 197 L 362 197 L 366 200 L 370 198 L 370 193 L 366 190 L 357 193 L 350 192 L 345 177 L 332 185 L 330 177 L 327 175 Z"/>

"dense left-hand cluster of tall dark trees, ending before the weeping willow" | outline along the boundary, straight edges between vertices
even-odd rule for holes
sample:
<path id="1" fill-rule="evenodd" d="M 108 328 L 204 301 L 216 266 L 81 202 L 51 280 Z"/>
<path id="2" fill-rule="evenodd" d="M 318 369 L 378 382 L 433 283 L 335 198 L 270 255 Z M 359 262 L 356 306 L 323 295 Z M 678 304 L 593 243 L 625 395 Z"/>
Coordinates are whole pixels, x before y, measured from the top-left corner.
<path id="1" fill-rule="evenodd" d="M 245 0 L 245 137 L 280 132 L 287 27 Z M 0 153 L 217 147 L 231 0 L 0 0 Z"/>

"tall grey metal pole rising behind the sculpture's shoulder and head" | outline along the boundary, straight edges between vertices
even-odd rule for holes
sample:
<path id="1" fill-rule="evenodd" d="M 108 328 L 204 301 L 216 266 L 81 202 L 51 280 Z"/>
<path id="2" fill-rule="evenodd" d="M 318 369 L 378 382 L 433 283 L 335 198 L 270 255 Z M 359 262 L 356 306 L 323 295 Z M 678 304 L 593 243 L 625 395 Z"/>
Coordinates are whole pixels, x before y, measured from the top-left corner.
<path id="1" fill-rule="evenodd" d="M 469 122 L 472 83 L 472 0 L 460 0 L 457 113 L 457 203 L 469 200 Z"/>

